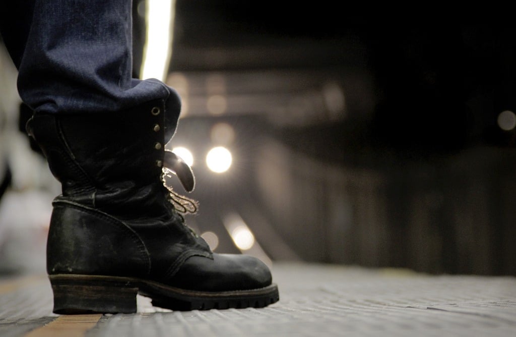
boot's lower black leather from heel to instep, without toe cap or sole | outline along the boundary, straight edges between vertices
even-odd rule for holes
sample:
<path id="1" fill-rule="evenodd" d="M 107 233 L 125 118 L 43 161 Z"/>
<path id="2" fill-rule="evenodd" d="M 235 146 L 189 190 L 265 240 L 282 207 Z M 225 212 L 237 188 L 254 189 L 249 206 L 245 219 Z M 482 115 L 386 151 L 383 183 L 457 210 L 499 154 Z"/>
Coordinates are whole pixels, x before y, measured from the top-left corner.
<path id="1" fill-rule="evenodd" d="M 62 197 L 54 202 L 47 241 L 49 274 L 112 275 L 163 282 L 173 266 L 175 272 L 192 255 L 212 259 L 204 240 L 193 238 L 174 217 L 121 221 Z"/>

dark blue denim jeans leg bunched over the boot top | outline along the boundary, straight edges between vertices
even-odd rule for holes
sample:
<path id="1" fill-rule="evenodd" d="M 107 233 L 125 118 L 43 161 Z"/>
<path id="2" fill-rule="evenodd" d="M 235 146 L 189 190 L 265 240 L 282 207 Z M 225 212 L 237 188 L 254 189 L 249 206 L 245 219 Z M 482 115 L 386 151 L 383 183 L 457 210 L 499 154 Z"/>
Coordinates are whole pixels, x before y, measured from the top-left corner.
<path id="1" fill-rule="evenodd" d="M 132 78 L 132 0 L 0 4 L 18 91 L 35 113 L 106 113 L 164 99 L 175 128 L 176 91 L 157 79 Z"/>

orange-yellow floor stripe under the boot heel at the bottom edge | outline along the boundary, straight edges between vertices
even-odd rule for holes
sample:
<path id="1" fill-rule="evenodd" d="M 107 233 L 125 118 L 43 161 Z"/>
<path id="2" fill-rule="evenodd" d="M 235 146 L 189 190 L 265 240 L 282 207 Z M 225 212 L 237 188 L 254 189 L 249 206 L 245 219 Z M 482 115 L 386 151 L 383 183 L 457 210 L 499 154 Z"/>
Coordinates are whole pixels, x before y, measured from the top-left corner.
<path id="1" fill-rule="evenodd" d="M 82 337 L 98 323 L 101 317 L 102 314 L 61 315 L 23 337 Z"/>

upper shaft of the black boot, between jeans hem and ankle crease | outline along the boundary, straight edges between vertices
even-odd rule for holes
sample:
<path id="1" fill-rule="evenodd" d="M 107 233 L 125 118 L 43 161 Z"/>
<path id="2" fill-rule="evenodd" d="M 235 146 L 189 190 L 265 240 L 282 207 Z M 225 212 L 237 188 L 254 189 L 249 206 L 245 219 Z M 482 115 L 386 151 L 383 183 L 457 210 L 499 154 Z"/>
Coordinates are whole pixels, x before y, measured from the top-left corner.
<path id="1" fill-rule="evenodd" d="M 27 130 L 62 197 L 123 218 L 155 216 L 168 208 L 164 109 L 157 100 L 116 113 L 36 114 Z"/>

